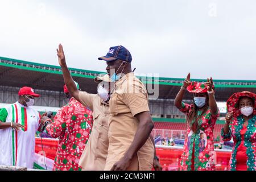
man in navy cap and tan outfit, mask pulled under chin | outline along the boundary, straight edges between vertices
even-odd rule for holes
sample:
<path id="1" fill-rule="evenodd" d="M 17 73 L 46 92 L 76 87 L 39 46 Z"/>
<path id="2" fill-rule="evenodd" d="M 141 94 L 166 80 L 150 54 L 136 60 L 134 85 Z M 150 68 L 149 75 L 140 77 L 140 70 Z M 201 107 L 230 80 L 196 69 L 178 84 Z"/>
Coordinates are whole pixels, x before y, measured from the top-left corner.
<path id="1" fill-rule="evenodd" d="M 149 137 L 154 123 L 147 90 L 131 71 L 131 54 L 125 47 L 115 46 L 98 59 L 106 61 L 106 71 L 115 82 L 109 101 L 109 149 L 105 170 L 151 170 L 154 144 Z"/>

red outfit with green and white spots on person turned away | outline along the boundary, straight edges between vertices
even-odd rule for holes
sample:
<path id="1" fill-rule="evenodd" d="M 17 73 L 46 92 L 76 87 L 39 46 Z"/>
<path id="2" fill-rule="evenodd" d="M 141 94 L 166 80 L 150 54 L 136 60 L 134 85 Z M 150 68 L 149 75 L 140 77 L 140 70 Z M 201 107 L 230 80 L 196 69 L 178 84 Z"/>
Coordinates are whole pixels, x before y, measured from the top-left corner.
<path id="1" fill-rule="evenodd" d="M 53 170 L 77 171 L 79 159 L 88 142 L 92 128 L 92 111 L 86 109 L 75 98 L 59 111 L 46 130 L 53 138 L 59 137 L 59 146 Z"/>

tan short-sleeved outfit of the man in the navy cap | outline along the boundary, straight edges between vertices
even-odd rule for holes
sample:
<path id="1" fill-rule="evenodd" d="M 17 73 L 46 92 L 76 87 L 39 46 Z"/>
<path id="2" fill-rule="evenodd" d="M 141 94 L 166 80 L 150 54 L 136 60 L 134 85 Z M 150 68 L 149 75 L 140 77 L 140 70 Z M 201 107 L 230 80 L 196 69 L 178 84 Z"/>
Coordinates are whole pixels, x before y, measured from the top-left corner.
<path id="1" fill-rule="evenodd" d="M 128 73 L 115 83 L 109 103 L 109 150 L 104 170 L 110 170 L 133 142 L 139 124 L 134 116 L 150 111 L 147 90 L 134 73 Z M 128 170 L 151 170 L 153 158 L 154 145 L 148 138 Z"/>

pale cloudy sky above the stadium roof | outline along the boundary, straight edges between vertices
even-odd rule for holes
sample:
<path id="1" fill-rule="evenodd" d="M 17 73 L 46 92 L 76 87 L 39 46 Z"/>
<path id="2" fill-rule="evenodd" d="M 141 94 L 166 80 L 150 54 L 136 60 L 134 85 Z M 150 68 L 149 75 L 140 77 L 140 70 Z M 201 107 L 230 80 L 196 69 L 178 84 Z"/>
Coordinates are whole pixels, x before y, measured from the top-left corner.
<path id="1" fill-rule="evenodd" d="M 137 74 L 255 80 L 255 0 L 0 0 L 0 56 L 105 71 L 122 45 Z"/>

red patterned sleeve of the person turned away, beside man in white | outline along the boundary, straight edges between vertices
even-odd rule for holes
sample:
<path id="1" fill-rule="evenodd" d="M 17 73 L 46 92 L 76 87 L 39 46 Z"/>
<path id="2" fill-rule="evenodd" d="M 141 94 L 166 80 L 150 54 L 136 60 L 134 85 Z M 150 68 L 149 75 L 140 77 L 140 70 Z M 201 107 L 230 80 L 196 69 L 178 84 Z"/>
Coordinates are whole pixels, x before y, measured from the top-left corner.
<path id="1" fill-rule="evenodd" d="M 65 112 L 62 109 L 58 110 L 53 122 L 47 125 L 46 133 L 52 138 L 57 138 L 60 137 L 60 135 L 63 135 L 66 129 L 65 118 Z"/>

